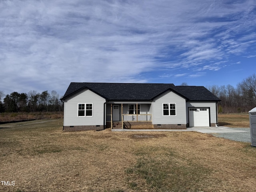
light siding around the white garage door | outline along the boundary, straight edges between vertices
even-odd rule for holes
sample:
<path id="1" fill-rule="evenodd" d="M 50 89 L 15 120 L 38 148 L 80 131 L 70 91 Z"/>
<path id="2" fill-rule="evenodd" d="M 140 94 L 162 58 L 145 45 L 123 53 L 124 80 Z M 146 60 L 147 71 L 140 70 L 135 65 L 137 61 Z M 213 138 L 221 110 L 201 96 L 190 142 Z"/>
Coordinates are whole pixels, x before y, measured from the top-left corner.
<path id="1" fill-rule="evenodd" d="M 216 123 L 216 102 L 187 102 L 186 103 L 186 113 L 187 113 L 187 123 L 189 122 L 189 109 L 188 108 L 209 108 L 210 110 L 210 123 Z"/>

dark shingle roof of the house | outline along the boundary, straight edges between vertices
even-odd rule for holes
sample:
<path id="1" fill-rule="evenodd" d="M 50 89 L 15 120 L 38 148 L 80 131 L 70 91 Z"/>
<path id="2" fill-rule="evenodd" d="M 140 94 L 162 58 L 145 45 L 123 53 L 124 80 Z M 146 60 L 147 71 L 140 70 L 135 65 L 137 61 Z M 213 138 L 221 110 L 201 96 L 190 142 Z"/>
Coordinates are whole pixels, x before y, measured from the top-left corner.
<path id="1" fill-rule="evenodd" d="M 142 83 L 70 83 L 61 100 L 74 93 L 88 88 L 107 100 L 152 100 L 166 90 L 172 90 L 194 101 L 219 101 L 203 86 L 174 86 L 174 84 L 142 84 Z"/>

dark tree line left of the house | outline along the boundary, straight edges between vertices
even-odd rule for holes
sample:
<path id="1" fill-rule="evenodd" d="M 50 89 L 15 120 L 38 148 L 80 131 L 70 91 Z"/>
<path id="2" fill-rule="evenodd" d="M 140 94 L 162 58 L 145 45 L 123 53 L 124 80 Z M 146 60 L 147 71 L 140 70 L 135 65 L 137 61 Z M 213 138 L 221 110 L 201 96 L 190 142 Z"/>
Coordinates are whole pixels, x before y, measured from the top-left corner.
<path id="1" fill-rule="evenodd" d="M 34 90 L 28 93 L 12 92 L 5 97 L 4 92 L 0 91 L 0 112 L 54 112 L 62 110 L 63 104 L 55 90 L 50 93 L 48 91 L 38 93 Z"/>

